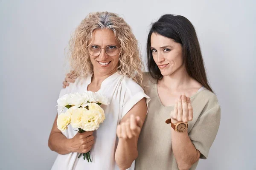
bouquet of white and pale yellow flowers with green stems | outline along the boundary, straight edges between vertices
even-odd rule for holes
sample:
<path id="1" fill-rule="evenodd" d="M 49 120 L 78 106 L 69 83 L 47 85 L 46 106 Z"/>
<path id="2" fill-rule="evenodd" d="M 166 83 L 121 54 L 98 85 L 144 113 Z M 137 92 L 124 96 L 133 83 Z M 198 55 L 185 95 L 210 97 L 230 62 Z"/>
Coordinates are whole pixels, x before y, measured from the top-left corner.
<path id="1" fill-rule="evenodd" d="M 64 131 L 71 124 L 73 128 L 78 128 L 79 133 L 93 131 L 105 120 L 104 110 L 99 106 L 109 105 L 108 98 L 99 93 L 85 91 L 84 93 L 66 94 L 57 100 L 60 112 L 67 108 L 65 113 L 58 115 L 58 129 Z M 89 151 L 90 152 L 90 151 Z M 90 153 L 83 153 L 84 160 L 92 161 Z M 80 158 L 81 154 L 78 156 Z"/>

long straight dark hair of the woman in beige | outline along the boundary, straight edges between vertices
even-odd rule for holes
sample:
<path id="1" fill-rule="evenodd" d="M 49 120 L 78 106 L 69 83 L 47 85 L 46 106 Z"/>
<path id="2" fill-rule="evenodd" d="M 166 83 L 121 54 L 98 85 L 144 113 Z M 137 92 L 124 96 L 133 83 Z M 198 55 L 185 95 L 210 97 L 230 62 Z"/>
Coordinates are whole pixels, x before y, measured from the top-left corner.
<path id="1" fill-rule="evenodd" d="M 180 43 L 183 48 L 182 54 L 187 73 L 209 91 L 212 91 L 207 81 L 204 60 L 195 28 L 188 19 L 180 15 L 165 14 L 152 24 L 147 42 L 148 71 L 151 77 L 160 80 L 163 78 L 163 75 L 154 62 L 150 48 L 152 33 L 160 34 Z"/>

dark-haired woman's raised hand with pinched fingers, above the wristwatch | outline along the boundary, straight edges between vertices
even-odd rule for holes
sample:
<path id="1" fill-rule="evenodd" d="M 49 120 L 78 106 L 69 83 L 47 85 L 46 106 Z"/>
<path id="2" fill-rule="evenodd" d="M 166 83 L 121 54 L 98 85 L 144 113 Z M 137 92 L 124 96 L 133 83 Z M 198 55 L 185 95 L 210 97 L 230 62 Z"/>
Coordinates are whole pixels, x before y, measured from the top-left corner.
<path id="1" fill-rule="evenodd" d="M 173 124 L 177 122 L 187 123 L 193 119 L 193 109 L 191 100 L 185 94 L 181 95 L 175 101 L 174 110 L 171 112 L 171 121 Z"/>

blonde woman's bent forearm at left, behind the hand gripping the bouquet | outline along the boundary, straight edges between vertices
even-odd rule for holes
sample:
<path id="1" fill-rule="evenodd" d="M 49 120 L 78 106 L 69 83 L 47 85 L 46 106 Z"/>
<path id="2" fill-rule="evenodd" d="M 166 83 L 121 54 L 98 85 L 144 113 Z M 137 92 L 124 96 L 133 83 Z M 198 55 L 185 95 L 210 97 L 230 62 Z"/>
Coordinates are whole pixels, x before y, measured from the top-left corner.
<path id="1" fill-rule="evenodd" d="M 52 133 L 49 137 L 48 146 L 52 151 L 55 151 L 61 155 L 68 154 L 72 152 L 70 147 L 70 139 L 67 139 L 61 133 Z"/>

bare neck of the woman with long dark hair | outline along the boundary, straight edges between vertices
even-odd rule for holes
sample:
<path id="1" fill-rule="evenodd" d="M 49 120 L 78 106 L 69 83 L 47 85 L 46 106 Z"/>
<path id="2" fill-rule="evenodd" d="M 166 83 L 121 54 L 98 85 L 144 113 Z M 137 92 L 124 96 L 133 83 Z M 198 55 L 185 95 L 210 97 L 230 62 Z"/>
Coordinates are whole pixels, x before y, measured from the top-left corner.
<path id="1" fill-rule="evenodd" d="M 173 91 L 186 89 L 189 86 L 191 80 L 192 78 L 189 77 L 189 74 L 183 65 L 171 75 L 163 76 L 163 79 L 160 80 L 160 83 Z"/>

